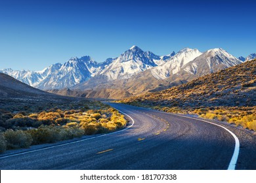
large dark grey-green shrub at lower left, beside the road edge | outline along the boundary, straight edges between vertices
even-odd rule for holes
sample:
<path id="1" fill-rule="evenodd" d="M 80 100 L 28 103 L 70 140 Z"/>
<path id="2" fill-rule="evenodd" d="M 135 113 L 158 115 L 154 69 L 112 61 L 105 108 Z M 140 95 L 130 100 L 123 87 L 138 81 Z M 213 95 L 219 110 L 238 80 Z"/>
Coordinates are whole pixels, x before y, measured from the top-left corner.
<path id="1" fill-rule="evenodd" d="M 22 130 L 13 131 L 12 129 L 7 129 L 3 134 L 7 141 L 8 149 L 28 148 L 32 144 L 31 135 Z"/>

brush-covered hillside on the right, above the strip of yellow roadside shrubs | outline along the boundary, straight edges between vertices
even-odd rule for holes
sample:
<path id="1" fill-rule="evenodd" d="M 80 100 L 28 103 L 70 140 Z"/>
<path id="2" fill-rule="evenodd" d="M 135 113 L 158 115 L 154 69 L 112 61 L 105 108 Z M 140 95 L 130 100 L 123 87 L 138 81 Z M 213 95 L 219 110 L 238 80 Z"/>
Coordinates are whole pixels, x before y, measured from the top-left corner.
<path id="1" fill-rule="evenodd" d="M 255 106 L 256 59 L 205 75 L 161 92 L 124 99 L 146 105 L 180 107 Z"/>

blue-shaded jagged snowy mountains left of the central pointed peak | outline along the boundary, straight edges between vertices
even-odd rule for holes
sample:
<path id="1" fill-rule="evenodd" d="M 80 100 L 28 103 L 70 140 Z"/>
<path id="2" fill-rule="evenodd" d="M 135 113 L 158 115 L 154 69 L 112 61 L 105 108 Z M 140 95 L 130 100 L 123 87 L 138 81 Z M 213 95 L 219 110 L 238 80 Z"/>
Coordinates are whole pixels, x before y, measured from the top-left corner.
<path id="1" fill-rule="evenodd" d="M 89 56 L 83 56 L 82 58 L 71 58 L 63 65 L 56 63 L 43 69 L 43 71 L 3 69 L 0 72 L 41 90 L 60 89 L 69 88 L 88 80 L 102 71 L 113 60 L 114 58 L 109 58 L 102 63 L 98 63 Z"/>

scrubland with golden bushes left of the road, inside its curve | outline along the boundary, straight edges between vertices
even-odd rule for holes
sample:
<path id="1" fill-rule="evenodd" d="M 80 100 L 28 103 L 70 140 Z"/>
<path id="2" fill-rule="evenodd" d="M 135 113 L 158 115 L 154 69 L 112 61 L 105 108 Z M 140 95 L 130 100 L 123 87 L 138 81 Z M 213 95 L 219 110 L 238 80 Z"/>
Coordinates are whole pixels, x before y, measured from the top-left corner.
<path id="1" fill-rule="evenodd" d="M 1 102 L 0 152 L 110 133 L 127 125 L 122 114 L 99 101 Z"/>

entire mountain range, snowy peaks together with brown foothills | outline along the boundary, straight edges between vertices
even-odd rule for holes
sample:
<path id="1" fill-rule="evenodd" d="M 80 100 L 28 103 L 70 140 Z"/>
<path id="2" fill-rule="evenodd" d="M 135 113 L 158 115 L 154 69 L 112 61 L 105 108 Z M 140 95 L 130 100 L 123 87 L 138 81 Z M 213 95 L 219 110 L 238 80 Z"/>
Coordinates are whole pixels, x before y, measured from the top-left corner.
<path id="1" fill-rule="evenodd" d="M 102 63 L 83 56 L 71 58 L 64 64 L 56 63 L 43 71 L 2 69 L 0 72 L 54 93 L 118 99 L 163 90 L 255 57 L 256 54 L 251 54 L 246 59 L 238 59 L 221 48 L 203 53 L 184 48 L 177 54 L 157 56 L 132 46 L 121 56 Z"/>

